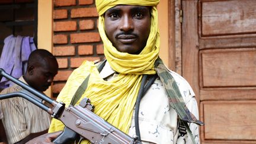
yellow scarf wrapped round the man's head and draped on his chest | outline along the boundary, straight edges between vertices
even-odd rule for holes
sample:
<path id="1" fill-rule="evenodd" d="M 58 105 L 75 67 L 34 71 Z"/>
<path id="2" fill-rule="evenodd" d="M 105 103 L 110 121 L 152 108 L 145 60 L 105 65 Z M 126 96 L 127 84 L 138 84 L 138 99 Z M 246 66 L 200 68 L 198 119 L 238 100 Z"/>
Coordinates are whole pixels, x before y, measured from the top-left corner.
<path id="1" fill-rule="evenodd" d="M 159 54 L 159 31 L 156 5 L 159 1 L 148 0 L 96 0 L 100 15 L 98 29 L 104 44 L 104 55 L 119 76 L 113 81 L 103 81 L 100 76 L 90 78 L 85 96 L 95 105 L 95 113 L 107 120 L 123 132 L 127 133 L 132 120 L 133 107 L 140 88 L 143 74 L 155 74 L 154 64 Z M 152 7 L 151 33 L 146 46 L 139 55 L 131 55 L 117 51 L 105 34 L 104 12 L 116 5 L 142 5 Z M 97 88 L 97 91 L 95 91 Z"/>

